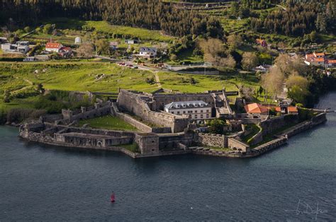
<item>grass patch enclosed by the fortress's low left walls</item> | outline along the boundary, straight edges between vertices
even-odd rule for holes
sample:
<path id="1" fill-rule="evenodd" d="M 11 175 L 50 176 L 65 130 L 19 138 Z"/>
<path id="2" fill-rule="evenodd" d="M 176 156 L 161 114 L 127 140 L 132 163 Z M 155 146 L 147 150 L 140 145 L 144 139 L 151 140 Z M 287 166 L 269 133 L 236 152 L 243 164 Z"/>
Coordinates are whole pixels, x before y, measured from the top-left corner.
<path id="1" fill-rule="evenodd" d="M 79 121 L 79 126 L 83 126 L 84 124 L 89 124 L 89 127 L 96 129 L 111 129 L 111 130 L 123 130 L 123 131 L 137 131 L 135 127 L 128 124 L 118 117 L 113 116 L 104 116 L 98 117 L 94 119 L 85 119 Z"/>

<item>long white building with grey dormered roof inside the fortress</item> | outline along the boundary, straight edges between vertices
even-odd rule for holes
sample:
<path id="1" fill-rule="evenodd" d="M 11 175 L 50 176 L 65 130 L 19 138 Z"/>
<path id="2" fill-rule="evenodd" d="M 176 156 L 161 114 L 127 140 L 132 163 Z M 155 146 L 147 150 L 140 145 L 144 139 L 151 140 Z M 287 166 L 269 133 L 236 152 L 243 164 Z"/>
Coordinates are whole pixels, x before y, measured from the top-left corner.
<path id="1" fill-rule="evenodd" d="M 211 105 L 201 100 L 173 102 L 164 106 L 164 111 L 174 115 L 189 115 L 191 119 L 210 119 Z"/>

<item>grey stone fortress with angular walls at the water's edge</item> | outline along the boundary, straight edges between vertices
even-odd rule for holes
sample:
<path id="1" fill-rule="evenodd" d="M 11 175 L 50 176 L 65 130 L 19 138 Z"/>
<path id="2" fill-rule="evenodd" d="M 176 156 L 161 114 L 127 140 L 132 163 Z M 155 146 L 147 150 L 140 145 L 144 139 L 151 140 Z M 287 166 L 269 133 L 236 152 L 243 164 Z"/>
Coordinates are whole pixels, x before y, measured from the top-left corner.
<path id="1" fill-rule="evenodd" d="M 88 93 L 91 96 L 91 93 Z M 196 153 L 209 156 L 252 157 L 285 144 L 288 137 L 325 122 L 325 113 L 311 121 L 298 124 L 286 134 L 279 135 L 267 144 L 259 144 L 263 136 L 286 124 L 286 116 L 274 119 L 249 118 L 247 114 L 236 114 L 230 107 L 228 95 L 237 92 L 212 90 L 204 93 L 140 93 L 119 90 L 116 101 L 96 99 L 93 107 L 81 110 L 62 110 L 60 115 L 45 115 L 38 121 L 27 122 L 20 127 L 20 136 L 29 141 L 57 146 L 92 148 L 121 151 L 133 158 Z M 93 97 L 92 97 L 93 98 Z M 164 112 L 164 106 L 174 102 L 203 101 L 211 108 L 211 118 L 224 117 L 232 134 L 206 134 L 200 132 L 191 115 Z M 136 127 L 136 132 L 78 127 L 77 122 L 105 115 L 113 115 Z M 297 117 L 291 116 L 291 121 Z M 248 134 L 245 124 L 259 124 L 260 130 L 252 142 L 246 144 L 240 138 Z M 138 151 L 127 146 L 135 145 Z M 219 148 L 216 150 L 211 147 Z M 220 148 L 228 148 L 221 151 Z"/>

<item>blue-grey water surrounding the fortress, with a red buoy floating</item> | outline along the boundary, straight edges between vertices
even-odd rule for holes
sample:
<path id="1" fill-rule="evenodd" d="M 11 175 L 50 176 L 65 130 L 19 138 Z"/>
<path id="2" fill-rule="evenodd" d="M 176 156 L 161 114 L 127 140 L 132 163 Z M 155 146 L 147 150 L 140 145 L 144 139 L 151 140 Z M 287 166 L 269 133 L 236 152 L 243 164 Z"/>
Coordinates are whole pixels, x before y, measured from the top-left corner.
<path id="1" fill-rule="evenodd" d="M 336 93 L 319 107 L 336 110 Z M 250 159 L 134 160 L 17 134 L 0 127 L 0 221 L 336 221 L 335 114 Z"/>

